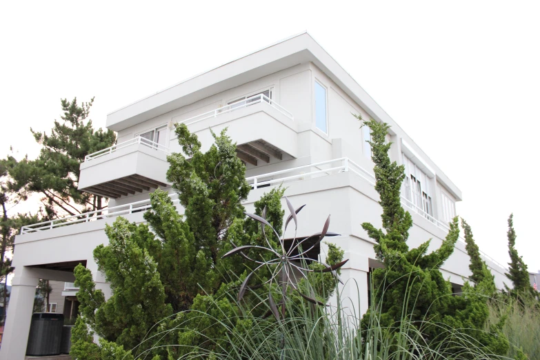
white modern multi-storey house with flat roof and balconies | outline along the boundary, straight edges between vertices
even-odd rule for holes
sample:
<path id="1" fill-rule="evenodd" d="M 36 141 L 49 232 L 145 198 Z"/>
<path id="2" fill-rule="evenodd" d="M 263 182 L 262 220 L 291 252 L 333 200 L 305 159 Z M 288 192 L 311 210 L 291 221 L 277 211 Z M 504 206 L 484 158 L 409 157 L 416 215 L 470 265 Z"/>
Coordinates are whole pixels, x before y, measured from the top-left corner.
<path id="1" fill-rule="evenodd" d="M 176 123 L 186 123 L 203 150 L 212 144 L 210 129 L 228 128 L 253 187 L 245 203 L 248 211 L 271 186 L 283 183 L 295 206 L 308 205 L 299 214 L 299 237 L 320 231 L 331 214 L 330 230 L 341 234 L 332 241 L 350 259 L 342 278 L 357 282 L 360 311 L 365 312 L 368 274 L 379 265 L 361 223 L 380 226 L 381 208 L 365 142 L 369 129 L 360 128 L 351 113 L 390 124 L 390 157 L 406 168 L 402 202 L 414 220 L 409 245 L 432 239 L 434 248 L 440 246 L 461 191 L 330 54 L 302 33 L 108 114 L 107 128 L 118 133 L 117 146 L 88 155 L 79 189 L 109 197 L 109 208 L 21 230 L 0 359 L 24 357 L 38 279 L 72 282 L 74 266 L 83 263 L 97 288 L 110 294 L 92 250 L 108 242 L 103 230 L 117 216 L 142 222 L 154 189 L 168 190 L 174 198 L 166 157 L 181 151 Z M 485 259 L 503 288 L 505 269 Z M 456 292 L 470 275 L 468 265 L 461 240 L 442 266 Z"/>

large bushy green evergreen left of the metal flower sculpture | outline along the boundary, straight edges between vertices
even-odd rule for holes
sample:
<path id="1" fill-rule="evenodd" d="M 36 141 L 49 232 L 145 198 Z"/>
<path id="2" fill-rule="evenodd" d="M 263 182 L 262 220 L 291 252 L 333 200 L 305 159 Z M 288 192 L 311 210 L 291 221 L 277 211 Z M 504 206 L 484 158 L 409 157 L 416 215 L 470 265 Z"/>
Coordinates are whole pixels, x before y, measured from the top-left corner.
<path id="1" fill-rule="evenodd" d="M 257 264 L 222 256 L 232 250 L 232 244 L 266 246 L 260 224 L 243 214 L 241 202 L 250 186 L 236 145 L 226 132 L 214 134 L 214 145 L 204 153 L 197 136 L 186 126 L 179 126 L 177 135 L 190 159 L 184 154 L 170 155 L 168 181 L 177 190 L 184 215 L 177 212 L 166 192 L 156 190 L 150 194 L 152 208 L 144 214 L 147 223 L 136 225 L 119 217 L 106 228 L 109 243 L 94 250 L 94 259 L 110 283 L 112 297 L 107 301 L 95 289 L 89 270 L 83 266 L 75 270 L 77 298 L 86 325 L 105 341 L 124 349 L 140 344 L 133 355 L 148 350 L 160 359 L 177 359 L 182 345 L 193 346 L 197 341 L 201 341 L 201 348 L 209 347 L 203 334 L 226 344 L 228 334 L 211 326 L 212 321 L 233 321 L 234 326 L 244 328 L 245 321 L 236 322 L 235 314 L 240 313 L 237 303 L 227 294 L 239 287 Z M 256 214 L 261 215 L 266 208 L 266 219 L 278 235 L 283 226 L 283 191 L 274 188 L 254 203 Z M 270 243 L 277 248 L 277 236 L 271 236 Z M 246 251 L 246 255 L 252 259 L 269 256 L 257 249 Z M 341 261 L 342 255 L 339 249 L 330 247 L 330 263 Z M 324 275 L 326 280 L 332 277 L 330 273 Z M 263 268 L 257 276 L 268 278 L 270 270 Z M 261 291 L 268 294 L 268 288 Z M 170 316 L 179 312 L 177 317 Z M 201 319 L 197 315 L 201 312 L 209 316 Z M 167 331 L 152 337 L 163 330 Z M 95 350 L 88 344 L 86 333 L 81 330 L 80 334 L 73 341 L 72 352 Z M 179 346 L 160 348 L 163 344 Z M 103 344 L 97 347 L 99 351 L 101 348 Z"/>

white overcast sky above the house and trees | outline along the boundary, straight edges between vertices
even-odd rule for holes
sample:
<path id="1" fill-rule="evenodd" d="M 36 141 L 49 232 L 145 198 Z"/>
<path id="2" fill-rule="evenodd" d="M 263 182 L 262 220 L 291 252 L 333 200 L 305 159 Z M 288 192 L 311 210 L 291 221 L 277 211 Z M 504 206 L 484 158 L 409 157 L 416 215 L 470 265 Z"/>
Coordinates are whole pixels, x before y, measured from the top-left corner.
<path id="1" fill-rule="evenodd" d="M 462 190 L 481 250 L 540 269 L 539 1 L 2 1 L 0 155 L 35 157 L 60 99 L 91 118 L 303 30 Z M 358 219 L 362 221 L 362 219 Z"/>

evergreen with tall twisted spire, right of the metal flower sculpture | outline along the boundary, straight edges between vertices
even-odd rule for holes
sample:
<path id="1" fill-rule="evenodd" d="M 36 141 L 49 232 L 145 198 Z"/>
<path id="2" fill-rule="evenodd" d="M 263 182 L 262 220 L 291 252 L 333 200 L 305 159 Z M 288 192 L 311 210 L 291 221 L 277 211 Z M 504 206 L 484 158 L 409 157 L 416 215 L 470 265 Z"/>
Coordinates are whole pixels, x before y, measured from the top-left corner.
<path id="1" fill-rule="evenodd" d="M 357 118 L 361 120 L 361 117 Z M 463 296 L 452 296 L 450 282 L 443 279 L 439 270 L 454 251 L 459 237 L 457 217 L 449 223 L 450 231 L 438 249 L 427 253 L 430 240 L 409 249 L 407 240 L 412 217 L 403 210 L 400 201 L 404 168 L 390 161 L 388 156 L 391 146 L 386 143 L 388 124 L 372 119 L 365 121 L 365 125 L 371 129 L 372 139 L 368 142 L 375 164 L 375 190 L 379 192 L 383 210 L 383 229 L 370 223 L 362 223 L 362 227 L 376 242 L 374 251 L 384 268 L 372 273 L 374 303 L 363 317 L 364 328 L 369 326 L 370 313 L 375 311 L 378 326 L 385 331 L 400 331 L 401 321 L 408 320 L 424 339 L 432 341 L 430 345 L 438 346 L 441 332 L 460 329 L 470 336 L 471 341 L 477 341 L 477 346 L 488 348 L 492 354 L 506 354 L 508 339 L 501 332 L 502 324 L 492 326 L 488 332 L 484 330 L 489 315 L 488 296 L 494 288 L 487 267 L 476 287 L 468 283 L 463 286 Z M 450 344 L 454 345 L 459 352 L 460 346 Z"/>

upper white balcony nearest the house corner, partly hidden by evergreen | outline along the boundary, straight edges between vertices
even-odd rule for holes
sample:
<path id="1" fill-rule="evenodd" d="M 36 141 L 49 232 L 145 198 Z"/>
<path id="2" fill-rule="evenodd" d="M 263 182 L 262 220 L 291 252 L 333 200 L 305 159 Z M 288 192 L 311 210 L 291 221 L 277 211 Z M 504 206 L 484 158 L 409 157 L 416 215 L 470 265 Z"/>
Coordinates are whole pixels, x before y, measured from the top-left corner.
<path id="1" fill-rule="evenodd" d="M 237 141 L 237 156 L 244 163 L 258 166 L 270 161 L 297 157 L 298 131 L 292 114 L 269 99 L 257 94 L 188 119 L 173 119 L 185 123 L 197 134 L 201 143 L 213 143 L 210 128 L 219 132 L 228 128 L 228 135 Z M 179 151 L 172 145 L 173 151 Z"/>

